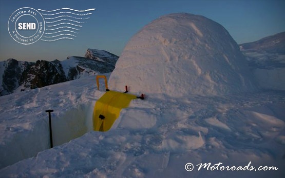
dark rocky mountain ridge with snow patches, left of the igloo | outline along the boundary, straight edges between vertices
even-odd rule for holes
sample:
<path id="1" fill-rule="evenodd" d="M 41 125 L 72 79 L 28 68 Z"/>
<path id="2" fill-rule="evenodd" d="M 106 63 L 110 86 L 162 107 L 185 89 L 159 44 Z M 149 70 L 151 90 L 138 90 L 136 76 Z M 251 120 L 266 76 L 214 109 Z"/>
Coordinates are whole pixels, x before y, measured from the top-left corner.
<path id="1" fill-rule="evenodd" d="M 0 96 L 75 80 L 86 75 L 115 69 L 119 56 L 104 50 L 87 49 L 85 57 L 71 56 L 64 61 L 0 62 Z"/>

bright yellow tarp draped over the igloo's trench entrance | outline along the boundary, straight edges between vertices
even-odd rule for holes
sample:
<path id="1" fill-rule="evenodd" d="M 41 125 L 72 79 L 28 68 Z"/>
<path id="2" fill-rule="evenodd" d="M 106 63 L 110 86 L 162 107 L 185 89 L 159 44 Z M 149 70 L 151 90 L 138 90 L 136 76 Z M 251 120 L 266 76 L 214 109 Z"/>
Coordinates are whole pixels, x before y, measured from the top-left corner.
<path id="1" fill-rule="evenodd" d="M 119 117 L 122 108 L 127 108 L 136 95 L 107 91 L 96 102 L 93 110 L 93 129 L 108 131 Z"/>

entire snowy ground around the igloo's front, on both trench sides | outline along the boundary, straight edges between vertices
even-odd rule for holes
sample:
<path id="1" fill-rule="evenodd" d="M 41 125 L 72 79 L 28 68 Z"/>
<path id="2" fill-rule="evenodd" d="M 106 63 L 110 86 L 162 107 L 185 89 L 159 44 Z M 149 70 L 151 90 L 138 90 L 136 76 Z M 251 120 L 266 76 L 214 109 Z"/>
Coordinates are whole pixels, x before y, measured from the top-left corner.
<path id="1" fill-rule="evenodd" d="M 111 130 L 95 132 L 90 131 L 92 109 L 104 94 L 95 83 L 90 76 L 2 96 L 0 177 L 285 175 L 284 92 L 183 98 L 147 95 L 122 110 Z M 54 109 L 54 144 L 59 145 L 52 149 L 48 149 L 47 109 Z M 35 157 L 20 161 L 29 156 Z M 198 171 L 196 166 L 220 162 L 220 167 L 250 164 L 250 168 L 278 170 Z M 192 172 L 185 170 L 186 163 L 195 166 Z"/>

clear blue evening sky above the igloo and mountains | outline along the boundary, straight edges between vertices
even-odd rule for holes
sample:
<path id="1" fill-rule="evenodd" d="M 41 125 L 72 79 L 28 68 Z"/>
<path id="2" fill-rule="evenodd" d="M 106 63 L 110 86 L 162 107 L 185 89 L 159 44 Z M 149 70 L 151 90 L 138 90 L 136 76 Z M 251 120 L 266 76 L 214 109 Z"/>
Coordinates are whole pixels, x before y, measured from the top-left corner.
<path id="1" fill-rule="evenodd" d="M 8 31 L 10 16 L 23 7 L 96 10 L 91 11 L 90 18 L 86 19 L 74 39 L 39 40 L 23 45 L 17 43 Z M 285 31 L 284 11 L 283 0 L 4 0 L 0 2 L 0 61 L 9 58 L 29 62 L 62 61 L 67 56 L 84 56 L 88 48 L 120 56 L 131 36 L 142 27 L 162 15 L 178 12 L 212 19 L 225 27 L 238 44 L 253 42 Z"/>

